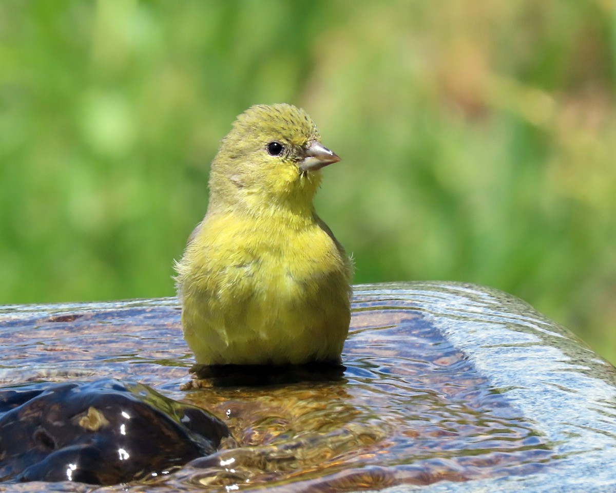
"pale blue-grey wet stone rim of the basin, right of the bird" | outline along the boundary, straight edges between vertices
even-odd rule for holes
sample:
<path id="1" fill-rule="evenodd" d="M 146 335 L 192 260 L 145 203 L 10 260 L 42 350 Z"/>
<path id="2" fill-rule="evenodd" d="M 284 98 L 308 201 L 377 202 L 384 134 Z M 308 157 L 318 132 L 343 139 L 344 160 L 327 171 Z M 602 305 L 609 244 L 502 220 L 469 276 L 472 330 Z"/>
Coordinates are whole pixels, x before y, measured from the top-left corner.
<path id="1" fill-rule="evenodd" d="M 537 474 L 381 491 L 616 491 L 616 370 L 567 328 L 524 301 L 476 285 L 366 285 L 355 293 L 420 306 L 554 451 L 551 466 Z"/>

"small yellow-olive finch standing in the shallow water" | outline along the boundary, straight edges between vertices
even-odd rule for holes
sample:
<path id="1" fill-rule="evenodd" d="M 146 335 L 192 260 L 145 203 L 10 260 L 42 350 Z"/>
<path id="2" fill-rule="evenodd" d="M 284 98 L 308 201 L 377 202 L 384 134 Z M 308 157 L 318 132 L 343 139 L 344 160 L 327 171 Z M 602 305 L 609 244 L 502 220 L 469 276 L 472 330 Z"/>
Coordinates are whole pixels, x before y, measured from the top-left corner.
<path id="1" fill-rule="evenodd" d="M 338 161 L 293 105 L 254 105 L 232 124 L 205 218 L 175 264 L 198 365 L 341 364 L 352 261 L 313 205 L 322 168 Z"/>

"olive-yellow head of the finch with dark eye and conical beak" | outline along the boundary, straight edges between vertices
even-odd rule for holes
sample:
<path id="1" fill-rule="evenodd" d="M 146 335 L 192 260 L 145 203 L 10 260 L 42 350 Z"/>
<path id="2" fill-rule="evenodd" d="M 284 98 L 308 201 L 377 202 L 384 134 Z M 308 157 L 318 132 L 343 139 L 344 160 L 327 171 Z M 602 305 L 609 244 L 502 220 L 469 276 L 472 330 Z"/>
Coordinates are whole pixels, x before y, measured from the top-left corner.
<path id="1" fill-rule="evenodd" d="M 326 149 L 304 110 L 255 105 L 238 116 L 212 163 L 210 206 L 312 209 L 320 169 L 340 158 Z"/>

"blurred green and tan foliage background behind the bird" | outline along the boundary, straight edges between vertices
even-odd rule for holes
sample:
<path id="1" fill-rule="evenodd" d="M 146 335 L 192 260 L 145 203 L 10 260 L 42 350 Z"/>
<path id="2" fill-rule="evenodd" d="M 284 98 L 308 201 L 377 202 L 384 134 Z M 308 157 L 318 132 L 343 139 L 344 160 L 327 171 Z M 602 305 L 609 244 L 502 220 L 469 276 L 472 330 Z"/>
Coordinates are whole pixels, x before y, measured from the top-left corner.
<path id="1" fill-rule="evenodd" d="M 173 295 L 219 140 L 290 102 L 355 282 L 500 288 L 616 361 L 615 89 L 610 0 L 2 0 L 0 303 Z"/>

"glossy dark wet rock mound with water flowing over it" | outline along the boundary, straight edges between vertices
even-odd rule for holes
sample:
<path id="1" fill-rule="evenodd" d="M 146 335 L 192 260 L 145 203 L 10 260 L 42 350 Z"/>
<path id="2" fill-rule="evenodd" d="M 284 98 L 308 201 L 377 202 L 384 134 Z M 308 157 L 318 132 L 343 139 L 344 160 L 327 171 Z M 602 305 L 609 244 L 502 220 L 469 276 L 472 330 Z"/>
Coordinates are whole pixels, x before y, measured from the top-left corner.
<path id="1" fill-rule="evenodd" d="M 227 426 L 145 385 L 103 379 L 0 389 L 0 481 L 116 484 L 212 454 Z"/>

